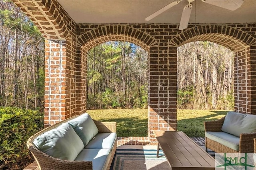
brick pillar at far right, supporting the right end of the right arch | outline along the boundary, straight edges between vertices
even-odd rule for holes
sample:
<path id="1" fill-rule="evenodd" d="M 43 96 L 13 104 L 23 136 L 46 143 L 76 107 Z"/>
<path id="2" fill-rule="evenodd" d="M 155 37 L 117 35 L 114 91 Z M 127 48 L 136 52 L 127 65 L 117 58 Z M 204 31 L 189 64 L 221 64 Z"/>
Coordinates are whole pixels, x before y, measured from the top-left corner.
<path id="1" fill-rule="evenodd" d="M 256 114 L 256 47 L 235 53 L 234 110 Z"/>

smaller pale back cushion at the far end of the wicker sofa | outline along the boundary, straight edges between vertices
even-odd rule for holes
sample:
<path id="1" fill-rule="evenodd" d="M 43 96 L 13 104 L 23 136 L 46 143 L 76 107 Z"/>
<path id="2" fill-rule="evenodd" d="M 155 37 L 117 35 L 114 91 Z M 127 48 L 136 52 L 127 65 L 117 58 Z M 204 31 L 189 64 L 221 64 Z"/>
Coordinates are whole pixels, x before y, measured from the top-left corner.
<path id="1" fill-rule="evenodd" d="M 88 113 L 84 113 L 75 119 L 68 121 L 68 123 L 74 128 L 78 136 L 82 139 L 84 146 L 86 146 L 99 132 L 97 126 Z"/>

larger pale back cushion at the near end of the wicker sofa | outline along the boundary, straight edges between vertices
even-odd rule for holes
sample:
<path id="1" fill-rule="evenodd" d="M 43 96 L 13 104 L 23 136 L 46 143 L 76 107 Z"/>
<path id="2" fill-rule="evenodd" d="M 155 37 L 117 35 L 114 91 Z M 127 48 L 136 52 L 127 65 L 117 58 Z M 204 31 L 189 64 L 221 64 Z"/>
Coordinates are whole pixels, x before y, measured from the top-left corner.
<path id="1" fill-rule="evenodd" d="M 42 152 L 62 160 L 74 160 L 84 148 L 82 140 L 68 123 L 45 132 L 33 143 Z"/>

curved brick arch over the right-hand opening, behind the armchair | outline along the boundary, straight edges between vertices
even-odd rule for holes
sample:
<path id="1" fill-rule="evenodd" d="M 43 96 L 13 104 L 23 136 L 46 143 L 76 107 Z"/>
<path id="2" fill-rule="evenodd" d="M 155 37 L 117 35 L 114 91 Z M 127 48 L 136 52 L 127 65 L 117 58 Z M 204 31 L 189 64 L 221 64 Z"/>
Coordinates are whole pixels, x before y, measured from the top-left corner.
<path id="1" fill-rule="evenodd" d="M 169 41 L 172 46 L 179 47 L 192 41 L 211 41 L 227 47 L 232 51 L 240 51 L 256 43 L 250 34 L 227 25 L 200 25 L 182 31 Z"/>

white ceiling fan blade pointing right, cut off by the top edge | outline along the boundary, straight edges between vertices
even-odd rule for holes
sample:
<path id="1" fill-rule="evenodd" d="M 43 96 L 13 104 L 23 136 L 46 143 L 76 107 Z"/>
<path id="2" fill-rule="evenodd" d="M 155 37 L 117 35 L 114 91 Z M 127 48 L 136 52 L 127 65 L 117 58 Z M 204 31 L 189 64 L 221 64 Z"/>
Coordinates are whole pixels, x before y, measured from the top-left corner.
<path id="1" fill-rule="evenodd" d="M 244 0 L 202 0 L 202 2 L 234 11 L 244 3 Z"/>

